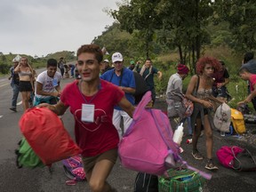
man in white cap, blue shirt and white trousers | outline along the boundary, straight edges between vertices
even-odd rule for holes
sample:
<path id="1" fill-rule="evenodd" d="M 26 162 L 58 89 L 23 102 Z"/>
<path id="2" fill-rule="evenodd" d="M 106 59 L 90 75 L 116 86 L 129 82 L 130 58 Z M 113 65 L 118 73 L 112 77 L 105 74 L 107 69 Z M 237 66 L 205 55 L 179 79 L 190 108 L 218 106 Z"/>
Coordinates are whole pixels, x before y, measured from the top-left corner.
<path id="1" fill-rule="evenodd" d="M 120 52 L 115 52 L 112 55 L 112 62 L 114 63 L 114 68 L 106 71 L 100 78 L 116 84 L 119 89 L 125 92 L 125 98 L 134 105 L 135 99 L 133 94 L 135 93 L 136 84 L 133 72 L 128 68 L 124 68 L 124 58 Z M 132 123 L 132 118 L 122 108 L 116 106 L 114 109 L 113 124 L 120 138 L 124 134 L 120 126 L 122 118 L 124 120 L 124 132 L 126 132 Z"/>

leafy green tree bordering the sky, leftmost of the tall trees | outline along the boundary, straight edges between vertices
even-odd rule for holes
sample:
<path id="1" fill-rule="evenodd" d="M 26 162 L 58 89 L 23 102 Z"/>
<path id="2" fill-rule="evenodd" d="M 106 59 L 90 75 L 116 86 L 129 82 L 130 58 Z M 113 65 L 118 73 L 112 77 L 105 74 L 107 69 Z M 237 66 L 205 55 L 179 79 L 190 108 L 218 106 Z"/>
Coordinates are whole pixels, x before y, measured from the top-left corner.
<path id="1" fill-rule="evenodd" d="M 130 34 L 137 30 L 140 39 L 143 40 L 141 46 L 145 56 L 149 57 L 156 28 L 161 27 L 161 20 L 156 14 L 156 5 L 160 0 L 132 0 L 130 3 L 121 4 L 119 10 L 110 10 L 112 17 L 118 20 L 120 28 Z"/>

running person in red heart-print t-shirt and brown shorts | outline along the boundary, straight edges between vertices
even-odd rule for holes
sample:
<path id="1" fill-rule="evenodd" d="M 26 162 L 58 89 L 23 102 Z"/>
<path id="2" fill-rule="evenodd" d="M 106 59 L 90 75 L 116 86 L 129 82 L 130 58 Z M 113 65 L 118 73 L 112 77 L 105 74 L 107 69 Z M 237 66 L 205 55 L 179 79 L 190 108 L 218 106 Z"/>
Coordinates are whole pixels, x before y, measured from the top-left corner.
<path id="1" fill-rule="evenodd" d="M 56 105 L 43 103 L 38 107 L 50 108 L 59 116 L 70 108 L 75 117 L 76 143 L 83 150 L 84 171 L 91 191 L 117 191 L 107 182 L 116 164 L 119 143 L 112 124 L 113 111 L 118 105 L 132 118 L 134 107 L 126 100 L 122 89 L 100 79 L 103 54 L 98 45 L 84 44 L 76 55 L 81 79 L 64 88 Z"/>

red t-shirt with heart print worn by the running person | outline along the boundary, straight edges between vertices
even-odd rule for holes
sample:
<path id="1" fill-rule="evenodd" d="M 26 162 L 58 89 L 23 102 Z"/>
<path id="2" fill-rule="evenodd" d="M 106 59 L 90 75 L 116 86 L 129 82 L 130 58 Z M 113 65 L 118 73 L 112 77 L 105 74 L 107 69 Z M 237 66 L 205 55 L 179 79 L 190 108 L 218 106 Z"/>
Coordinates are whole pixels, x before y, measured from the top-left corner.
<path id="1" fill-rule="evenodd" d="M 114 106 L 122 100 L 124 92 L 116 85 L 100 80 L 100 89 L 92 97 L 86 97 L 78 88 L 78 81 L 68 84 L 61 92 L 60 100 L 70 107 L 75 118 L 76 143 L 82 148 L 82 156 L 97 156 L 117 148 L 119 136 L 112 124 Z M 94 104 L 94 122 L 81 121 L 82 104 Z"/>

